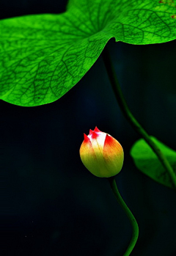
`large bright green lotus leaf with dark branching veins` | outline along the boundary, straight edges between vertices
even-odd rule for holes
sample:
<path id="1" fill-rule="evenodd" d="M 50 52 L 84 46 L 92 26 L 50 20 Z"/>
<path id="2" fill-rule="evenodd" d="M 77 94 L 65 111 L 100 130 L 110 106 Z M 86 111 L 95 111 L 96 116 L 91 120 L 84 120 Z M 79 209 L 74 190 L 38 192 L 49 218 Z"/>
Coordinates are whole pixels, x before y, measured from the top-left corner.
<path id="1" fill-rule="evenodd" d="M 106 43 L 176 38 L 174 1 L 70 0 L 67 12 L 0 21 L 0 98 L 20 106 L 51 103 L 87 73 Z"/>

